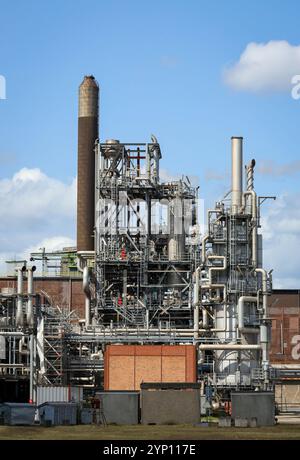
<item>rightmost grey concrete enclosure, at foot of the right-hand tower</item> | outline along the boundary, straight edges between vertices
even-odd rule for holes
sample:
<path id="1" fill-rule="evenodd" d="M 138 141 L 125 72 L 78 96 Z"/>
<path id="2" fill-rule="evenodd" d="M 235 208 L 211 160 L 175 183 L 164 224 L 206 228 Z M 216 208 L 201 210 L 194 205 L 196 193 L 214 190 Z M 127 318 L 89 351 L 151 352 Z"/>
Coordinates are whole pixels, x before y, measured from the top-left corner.
<path id="1" fill-rule="evenodd" d="M 257 426 L 272 426 L 275 423 L 275 394 L 272 392 L 232 392 L 231 417 L 257 419 Z"/>

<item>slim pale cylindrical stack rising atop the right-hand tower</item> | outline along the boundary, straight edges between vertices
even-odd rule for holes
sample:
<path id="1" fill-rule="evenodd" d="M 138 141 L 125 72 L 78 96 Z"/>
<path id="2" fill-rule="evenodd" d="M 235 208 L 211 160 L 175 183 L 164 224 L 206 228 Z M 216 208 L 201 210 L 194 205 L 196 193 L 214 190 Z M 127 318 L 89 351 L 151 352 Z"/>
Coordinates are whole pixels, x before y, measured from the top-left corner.
<path id="1" fill-rule="evenodd" d="M 238 214 L 243 193 L 243 138 L 231 138 L 231 212 Z"/>

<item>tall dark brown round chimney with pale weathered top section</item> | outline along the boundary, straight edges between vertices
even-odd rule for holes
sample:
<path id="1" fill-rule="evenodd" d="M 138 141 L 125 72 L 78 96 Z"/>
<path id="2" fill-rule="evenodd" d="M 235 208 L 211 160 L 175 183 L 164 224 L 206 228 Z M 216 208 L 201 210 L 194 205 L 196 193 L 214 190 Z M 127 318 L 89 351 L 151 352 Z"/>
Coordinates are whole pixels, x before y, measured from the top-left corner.
<path id="1" fill-rule="evenodd" d="M 98 139 L 99 86 L 92 75 L 79 87 L 77 251 L 94 249 L 95 141 Z"/>

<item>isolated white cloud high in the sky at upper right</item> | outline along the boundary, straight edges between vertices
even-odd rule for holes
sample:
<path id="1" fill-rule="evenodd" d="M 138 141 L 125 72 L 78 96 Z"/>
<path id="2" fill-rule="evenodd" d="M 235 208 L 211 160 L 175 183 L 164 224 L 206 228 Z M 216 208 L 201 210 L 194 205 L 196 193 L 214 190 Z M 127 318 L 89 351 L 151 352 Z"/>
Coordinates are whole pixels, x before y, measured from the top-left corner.
<path id="1" fill-rule="evenodd" d="M 249 43 L 239 60 L 225 69 L 224 81 L 241 91 L 291 91 L 292 77 L 299 74 L 300 45 L 273 40 Z"/>

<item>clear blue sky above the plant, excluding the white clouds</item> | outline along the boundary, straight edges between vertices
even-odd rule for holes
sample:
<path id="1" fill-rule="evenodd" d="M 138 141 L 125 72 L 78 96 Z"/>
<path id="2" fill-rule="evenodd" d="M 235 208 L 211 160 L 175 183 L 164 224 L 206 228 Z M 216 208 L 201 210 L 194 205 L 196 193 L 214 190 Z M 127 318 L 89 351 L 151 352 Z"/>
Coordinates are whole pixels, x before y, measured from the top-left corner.
<path id="1" fill-rule="evenodd" d="M 74 191 L 78 85 L 94 74 L 101 139 L 145 141 L 154 133 L 162 168 L 198 176 L 200 195 L 211 205 L 229 189 L 230 137 L 242 135 L 245 162 L 254 157 L 258 168 L 275 171 L 260 168 L 258 193 L 283 197 L 292 208 L 299 193 L 300 100 L 286 89 L 237 90 L 223 73 L 249 43 L 298 46 L 298 1 L 0 0 L 0 12 L 0 74 L 7 84 L 7 99 L 0 100 L 0 181 L 39 168 Z M 275 217 L 266 207 L 269 237 L 284 206 Z M 300 229 L 300 216 L 298 223 Z M 73 224 L 71 216 L 58 234 L 44 228 L 34 237 L 72 239 Z M 6 241 L 0 226 L 0 246 Z M 285 286 L 296 282 L 298 269 Z"/>

